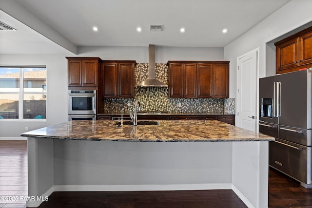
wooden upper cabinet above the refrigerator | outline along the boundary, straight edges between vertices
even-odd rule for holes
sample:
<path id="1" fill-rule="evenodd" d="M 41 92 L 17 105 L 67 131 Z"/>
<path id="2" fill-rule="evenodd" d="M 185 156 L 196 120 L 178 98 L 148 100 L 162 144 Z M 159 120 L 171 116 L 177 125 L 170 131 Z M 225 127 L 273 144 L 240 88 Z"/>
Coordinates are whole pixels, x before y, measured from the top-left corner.
<path id="1" fill-rule="evenodd" d="M 312 27 L 275 43 L 276 74 L 312 67 Z"/>

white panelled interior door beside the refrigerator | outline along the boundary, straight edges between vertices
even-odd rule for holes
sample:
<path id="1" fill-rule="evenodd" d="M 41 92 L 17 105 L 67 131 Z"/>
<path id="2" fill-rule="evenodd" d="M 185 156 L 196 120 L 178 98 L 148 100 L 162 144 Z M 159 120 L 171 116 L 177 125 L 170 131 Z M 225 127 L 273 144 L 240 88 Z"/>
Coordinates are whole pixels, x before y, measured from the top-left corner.
<path id="1" fill-rule="evenodd" d="M 256 132 L 259 49 L 237 58 L 237 126 Z"/>

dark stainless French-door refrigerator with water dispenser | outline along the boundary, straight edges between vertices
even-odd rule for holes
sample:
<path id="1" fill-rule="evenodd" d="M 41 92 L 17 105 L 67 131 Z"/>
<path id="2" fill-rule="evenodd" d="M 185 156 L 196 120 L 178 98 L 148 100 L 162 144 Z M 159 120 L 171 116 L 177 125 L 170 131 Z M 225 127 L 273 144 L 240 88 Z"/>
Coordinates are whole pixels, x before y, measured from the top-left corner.
<path id="1" fill-rule="evenodd" d="M 259 79 L 259 132 L 269 166 L 312 188 L 312 68 Z"/>

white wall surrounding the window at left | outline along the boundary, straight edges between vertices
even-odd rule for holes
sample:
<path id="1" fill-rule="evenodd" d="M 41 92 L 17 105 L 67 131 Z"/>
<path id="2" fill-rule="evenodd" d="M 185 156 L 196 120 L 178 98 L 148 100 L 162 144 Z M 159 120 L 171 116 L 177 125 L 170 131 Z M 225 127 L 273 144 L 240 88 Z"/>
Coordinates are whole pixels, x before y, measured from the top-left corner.
<path id="1" fill-rule="evenodd" d="M 46 121 L 0 121 L 0 139 L 67 121 L 67 59 L 63 55 L 0 55 L 0 65 L 46 65 Z"/>

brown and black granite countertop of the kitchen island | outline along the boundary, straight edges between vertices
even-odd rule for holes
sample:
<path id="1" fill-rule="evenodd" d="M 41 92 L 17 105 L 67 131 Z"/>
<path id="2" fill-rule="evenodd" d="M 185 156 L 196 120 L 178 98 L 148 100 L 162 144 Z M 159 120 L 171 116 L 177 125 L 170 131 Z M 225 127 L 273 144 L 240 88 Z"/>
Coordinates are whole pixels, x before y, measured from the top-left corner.
<path id="1" fill-rule="evenodd" d="M 74 120 L 22 133 L 21 136 L 142 142 L 217 142 L 217 141 L 273 141 L 262 133 L 251 132 L 220 121 L 158 121 L 159 125 L 123 125 L 116 121 Z"/>

